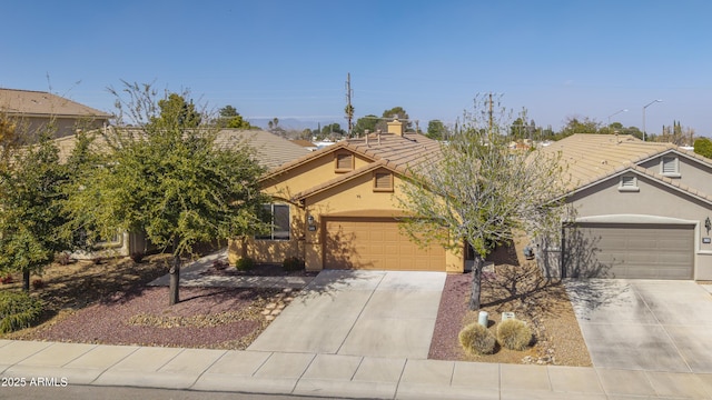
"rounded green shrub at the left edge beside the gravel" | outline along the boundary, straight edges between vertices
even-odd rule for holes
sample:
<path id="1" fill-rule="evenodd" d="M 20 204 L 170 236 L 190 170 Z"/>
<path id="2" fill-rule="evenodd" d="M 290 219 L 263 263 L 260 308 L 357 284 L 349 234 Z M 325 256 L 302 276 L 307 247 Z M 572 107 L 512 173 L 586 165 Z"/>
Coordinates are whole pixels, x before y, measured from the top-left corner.
<path id="1" fill-rule="evenodd" d="M 42 313 L 42 300 L 26 292 L 0 291 L 0 333 L 28 328 Z"/>

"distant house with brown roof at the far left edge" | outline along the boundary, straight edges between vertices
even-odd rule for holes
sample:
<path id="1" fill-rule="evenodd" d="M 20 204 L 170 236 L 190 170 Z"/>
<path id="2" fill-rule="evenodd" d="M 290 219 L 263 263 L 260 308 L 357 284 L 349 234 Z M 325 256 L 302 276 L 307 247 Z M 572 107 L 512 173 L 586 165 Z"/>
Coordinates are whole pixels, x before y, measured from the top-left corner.
<path id="1" fill-rule="evenodd" d="M 21 122 L 22 132 L 29 136 L 26 142 L 33 141 L 50 122 L 55 124 L 55 136 L 61 138 L 77 133 L 77 129 L 108 126 L 112 117 L 57 94 L 17 89 L 0 89 L 0 112 Z"/>

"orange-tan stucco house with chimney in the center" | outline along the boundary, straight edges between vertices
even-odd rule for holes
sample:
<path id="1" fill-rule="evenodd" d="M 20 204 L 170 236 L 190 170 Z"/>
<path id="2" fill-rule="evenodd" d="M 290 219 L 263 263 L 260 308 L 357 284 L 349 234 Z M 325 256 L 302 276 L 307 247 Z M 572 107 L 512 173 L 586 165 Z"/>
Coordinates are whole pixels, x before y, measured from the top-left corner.
<path id="1" fill-rule="evenodd" d="M 437 141 L 404 133 L 396 120 L 388 133 L 343 140 L 275 169 L 261 180 L 275 199 L 266 206 L 274 227 L 233 241 L 230 260 L 281 263 L 296 257 L 310 271 L 462 272 L 464 251 L 419 247 L 399 228 L 407 216 L 396 201 L 403 177 L 436 153 Z"/>

